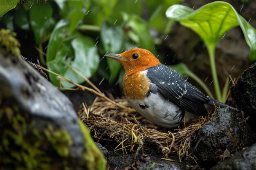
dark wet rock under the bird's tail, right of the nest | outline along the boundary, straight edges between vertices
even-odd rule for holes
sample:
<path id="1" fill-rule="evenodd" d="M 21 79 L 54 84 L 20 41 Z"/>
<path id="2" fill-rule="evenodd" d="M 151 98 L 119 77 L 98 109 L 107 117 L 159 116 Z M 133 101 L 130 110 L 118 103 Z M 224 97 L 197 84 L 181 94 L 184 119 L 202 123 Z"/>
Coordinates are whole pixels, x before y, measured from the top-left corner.
<path id="1" fill-rule="evenodd" d="M 199 159 L 211 167 L 234 152 L 255 142 L 255 135 L 245 121 L 229 108 L 221 108 L 197 133 Z M 226 150 L 227 149 L 227 150 Z"/>

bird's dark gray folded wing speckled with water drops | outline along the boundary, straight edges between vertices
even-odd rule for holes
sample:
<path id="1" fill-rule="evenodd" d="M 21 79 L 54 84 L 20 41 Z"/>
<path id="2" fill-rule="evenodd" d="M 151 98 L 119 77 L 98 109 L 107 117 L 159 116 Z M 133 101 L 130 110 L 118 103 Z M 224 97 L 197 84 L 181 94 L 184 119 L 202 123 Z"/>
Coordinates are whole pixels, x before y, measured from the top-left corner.
<path id="1" fill-rule="evenodd" d="M 163 64 L 146 70 L 150 83 L 157 86 L 158 93 L 166 100 L 190 113 L 207 115 L 204 103 L 209 100 L 209 97 L 186 82 L 176 71 Z"/>

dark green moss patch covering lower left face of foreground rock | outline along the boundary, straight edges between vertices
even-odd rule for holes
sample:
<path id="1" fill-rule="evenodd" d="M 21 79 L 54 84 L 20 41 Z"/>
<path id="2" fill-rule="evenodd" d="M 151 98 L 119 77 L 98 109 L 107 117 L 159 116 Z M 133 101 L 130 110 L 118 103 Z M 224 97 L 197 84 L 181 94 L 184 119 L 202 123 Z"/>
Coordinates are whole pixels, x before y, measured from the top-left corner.
<path id="1" fill-rule="evenodd" d="M 66 130 L 36 128 L 16 106 L 0 106 L 0 165 L 4 169 L 73 169 L 72 140 Z"/>

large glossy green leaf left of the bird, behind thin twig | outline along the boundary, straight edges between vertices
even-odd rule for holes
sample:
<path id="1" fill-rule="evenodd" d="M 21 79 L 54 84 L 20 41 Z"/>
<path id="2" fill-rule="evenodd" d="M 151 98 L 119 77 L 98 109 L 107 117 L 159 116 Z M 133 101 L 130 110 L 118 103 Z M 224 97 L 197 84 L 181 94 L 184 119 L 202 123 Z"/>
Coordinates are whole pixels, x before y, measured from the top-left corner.
<path id="1" fill-rule="evenodd" d="M 79 75 L 74 73 L 69 66 L 75 68 L 85 77 L 90 78 L 98 68 L 99 55 L 95 42 L 78 32 L 70 33 L 69 22 L 61 20 L 56 24 L 52 32 L 47 48 L 47 67 L 73 82 L 82 83 Z M 58 77 L 49 75 L 52 83 L 59 86 Z M 73 87 L 72 84 L 63 82 L 65 87 Z"/>

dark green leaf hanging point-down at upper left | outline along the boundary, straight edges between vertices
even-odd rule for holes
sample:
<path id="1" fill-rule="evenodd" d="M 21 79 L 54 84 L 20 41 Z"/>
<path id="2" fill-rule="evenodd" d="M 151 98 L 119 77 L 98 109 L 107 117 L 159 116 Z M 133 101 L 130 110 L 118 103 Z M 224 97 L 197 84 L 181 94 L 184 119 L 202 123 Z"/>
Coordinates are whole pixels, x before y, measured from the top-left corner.
<path id="1" fill-rule="evenodd" d="M 50 4 L 34 4 L 29 11 L 29 18 L 32 30 L 36 38 L 36 44 L 40 44 L 45 27 L 52 17 L 52 7 Z"/>

